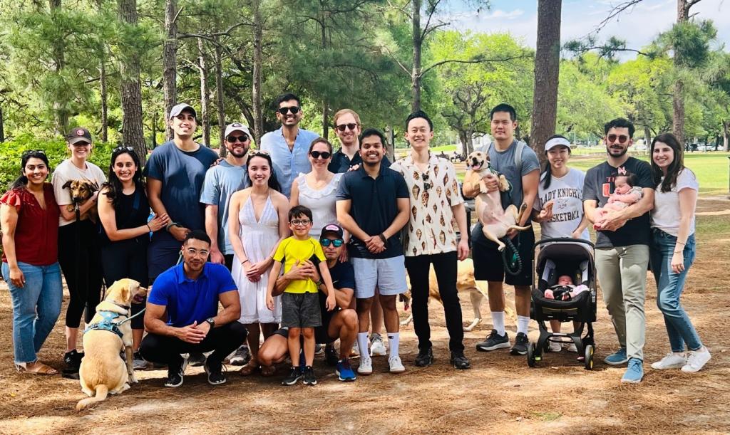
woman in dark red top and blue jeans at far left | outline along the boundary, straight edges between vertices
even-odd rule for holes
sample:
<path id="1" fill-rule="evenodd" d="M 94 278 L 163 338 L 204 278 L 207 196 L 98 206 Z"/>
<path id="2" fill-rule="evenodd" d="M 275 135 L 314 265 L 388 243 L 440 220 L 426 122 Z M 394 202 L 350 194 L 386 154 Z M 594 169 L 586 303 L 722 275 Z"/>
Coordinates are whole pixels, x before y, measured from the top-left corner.
<path id="1" fill-rule="evenodd" d="M 20 177 L 0 198 L 2 274 L 12 298 L 15 368 L 34 375 L 58 373 L 37 353 L 61 313 L 58 205 L 46 183 L 50 167 L 42 151 L 26 151 Z"/>

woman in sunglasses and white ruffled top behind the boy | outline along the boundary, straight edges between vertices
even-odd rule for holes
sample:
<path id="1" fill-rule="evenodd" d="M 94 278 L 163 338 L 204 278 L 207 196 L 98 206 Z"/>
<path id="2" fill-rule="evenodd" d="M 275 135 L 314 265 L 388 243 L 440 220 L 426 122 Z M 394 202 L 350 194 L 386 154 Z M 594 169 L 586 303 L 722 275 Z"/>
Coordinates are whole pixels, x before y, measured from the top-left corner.
<path id="1" fill-rule="evenodd" d="M 337 186 L 342 173 L 331 173 L 332 144 L 316 138 L 307 153 L 312 164 L 310 173 L 301 173 L 291 184 L 291 206 L 304 205 L 312 211 L 310 236 L 319 240 L 326 224 L 337 222 Z"/>

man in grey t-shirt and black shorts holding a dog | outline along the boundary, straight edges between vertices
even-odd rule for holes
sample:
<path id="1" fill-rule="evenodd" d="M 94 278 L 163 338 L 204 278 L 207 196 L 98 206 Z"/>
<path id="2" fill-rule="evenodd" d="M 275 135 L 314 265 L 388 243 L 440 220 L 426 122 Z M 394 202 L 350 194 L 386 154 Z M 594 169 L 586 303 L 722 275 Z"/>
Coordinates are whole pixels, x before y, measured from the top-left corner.
<path id="1" fill-rule="evenodd" d="M 515 139 L 515 128 L 517 128 L 517 112 L 509 104 L 498 104 L 492 109 L 491 133 L 494 141 L 486 146 L 484 152 L 488 153 L 491 167 L 504 174 L 507 181 L 510 181 L 510 202 L 518 209 L 525 206 L 526 213 L 518 222 L 520 227 L 531 226 L 530 213 L 535 197 L 537 197 L 537 184 L 539 183 L 539 162 L 537 154 L 524 142 Z M 498 189 L 497 179 L 489 174 L 483 179 L 489 192 Z M 478 184 L 464 184 L 464 196 L 475 197 L 479 194 Z M 507 206 L 509 204 L 503 204 Z M 530 324 L 530 286 L 532 281 L 533 246 L 535 235 L 532 228 L 516 232 L 507 232 L 507 238 L 518 250 L 522 259 L 522 270 L 518 275 L 507 273 L 504 278 L 506 267 L 502 261 L 502 254 L 497 249 L 497 244 L 484 237 L 482 224 L 477 224 L 472 232 L 472 257 L 474 259 L 474 278 L 478 281 L 488 281 L 489 309 L 491 310 L 493 328 L 485 341 L 477 343 L 477 350 L 488 351 L 510 347 L 510 337 L 507 336 L 504 328 L 504 283 L 515 286 L 515 311 L 517 311 L 517 337 L 515 345 L 512 346 L 512 355 L 524 355 L 527 353 L 527 329 Z"/>

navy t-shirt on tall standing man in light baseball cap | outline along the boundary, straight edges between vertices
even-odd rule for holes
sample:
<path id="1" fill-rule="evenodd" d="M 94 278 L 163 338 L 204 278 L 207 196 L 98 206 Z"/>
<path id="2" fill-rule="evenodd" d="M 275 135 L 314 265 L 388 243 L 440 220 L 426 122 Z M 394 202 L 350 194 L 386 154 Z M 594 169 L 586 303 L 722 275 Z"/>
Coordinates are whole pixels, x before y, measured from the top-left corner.
<path id="1" fill-rule="evenodd" d="M 147 177 L 162 181 L 161 200 L 172 222 L 189 230 L 204 230 L 204 205 L 200 203 L 205 173 L 218 160 L 210 148 L 200 146 L 193 152 L 184 152 L 168 141 L 155 148 L 145 165 Z M 166 231 L 155 231 L 155 238 L 169 238 Z"/>

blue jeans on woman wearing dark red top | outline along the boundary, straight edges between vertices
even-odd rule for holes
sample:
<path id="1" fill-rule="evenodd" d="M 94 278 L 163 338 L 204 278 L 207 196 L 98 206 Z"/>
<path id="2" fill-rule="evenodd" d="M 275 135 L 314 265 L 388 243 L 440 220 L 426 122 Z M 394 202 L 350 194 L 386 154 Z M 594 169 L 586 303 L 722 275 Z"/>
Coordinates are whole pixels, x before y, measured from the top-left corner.
<path id="1" fill-rule="evenodd" d="M 2 264 L 2 275 L 7 281 L 12 298 L 12 346 L 15 363 L 34 362 L 36 354 L 53 330 L 61 313 L 61 267 L 34 266 L 18 262 L 26 277 L 26 285 L 16 287 L 9 279 L 10 267 Z"/>

